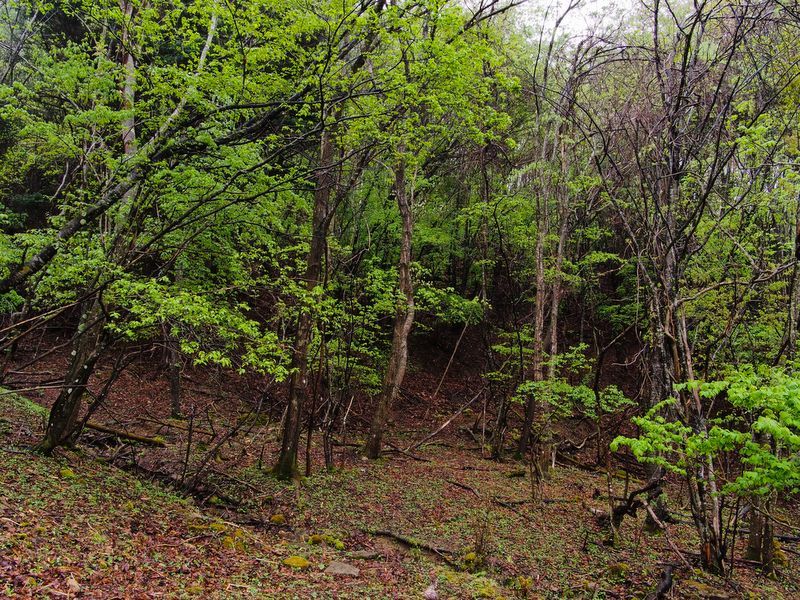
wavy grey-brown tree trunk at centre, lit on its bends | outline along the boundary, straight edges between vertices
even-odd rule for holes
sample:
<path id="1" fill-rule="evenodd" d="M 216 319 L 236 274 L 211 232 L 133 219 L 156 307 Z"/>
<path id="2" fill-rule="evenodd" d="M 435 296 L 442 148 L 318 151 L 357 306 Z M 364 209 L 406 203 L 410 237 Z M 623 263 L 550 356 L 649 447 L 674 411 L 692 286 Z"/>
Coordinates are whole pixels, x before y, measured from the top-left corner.
<path id="1" fill-rule="evenodd" d="M 383 434 L 386 421 L 394 400 L 400 391 L 408 364 L 408 335 L 414 324 L 414 286 L 411 281 L 411 238 L 413 220 L 411 216 L 411 199 L 406 191 L 405 167 L 400 164 L 395 170 L 394 194 L 403 230 L 400 240 L 400 260 L 397 264 L 399 273 L 400 293 L 403 299 L 397 307 L 392 333 L 392 349 L 389 362 L 383 377 L 383 387 L 375 406 L 372 417 L 372 426 L 365 448 L 368 458 L 378 458 L 381 454 Z"/>

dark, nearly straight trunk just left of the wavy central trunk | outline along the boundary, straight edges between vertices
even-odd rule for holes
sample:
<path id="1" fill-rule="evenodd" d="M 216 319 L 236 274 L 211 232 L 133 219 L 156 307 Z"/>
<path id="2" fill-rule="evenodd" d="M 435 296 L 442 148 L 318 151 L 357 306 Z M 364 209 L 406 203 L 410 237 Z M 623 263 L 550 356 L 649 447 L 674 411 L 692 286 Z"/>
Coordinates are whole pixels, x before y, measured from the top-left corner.
<path id="1" fill-rule="evenodd" d="M 314 192 L 314 212 L 311 218 L 311 246 L 306 259 L 306 290 L 311 294 L 322 275 L 322 262 L 328 237 L 328 210 L 333 173 L 333 142 L 326 131 L 320 142 L 320 170 Z M 307 302 L 311 300 L 308 299 Z M 289 403 L 283 420 L 281 453 L 275 473 L 283 479 L 291 479 L 297 474 L 297 448 L 300 443 L 303 410 L 308 400 L 308 350 L 314 331 L 311 307 L 303 305 L 297 319 L 294 350 L 292 351 L 292 375 L 289 380 Z"/>

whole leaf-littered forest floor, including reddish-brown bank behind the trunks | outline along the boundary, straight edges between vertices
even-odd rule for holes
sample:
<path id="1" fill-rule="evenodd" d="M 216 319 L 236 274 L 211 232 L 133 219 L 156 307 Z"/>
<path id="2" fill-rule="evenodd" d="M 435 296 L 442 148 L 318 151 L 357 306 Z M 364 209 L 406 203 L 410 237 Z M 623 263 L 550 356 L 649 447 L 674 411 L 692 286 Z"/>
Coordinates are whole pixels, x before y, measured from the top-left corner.
<path id="1" fill-rule="evenodd" d="M 66 356 L 52 361 L 39 373 L 59 372 Z M 468 431 L 479 403 L 428 445 L 398 451 L 435 431 L 480 385 L 466 370 L 442 388 L 446 400 L 431 398 L 440 366 L 412 372 L 385 458 L 360 456 L 355 426 L 337 435 L 334 470 L 322 468 L 314 438 L 313 474 L 289 483 L 269 472 L 278 418 L 253 412 L 273 393 L 255 381 L 187 372 L 184 407 L 193 418 L 175 421 L 164 408 L 163 373 L 134 366 L 92 419 L 165 447 L 87 431 L 51 458 L 28 448 L 54 391 L 31 396 L 36 402 L 0 391 L 0 596 L 420 599 L 435 580 L 440 599 L 643 598 L 674 564 L 670 597 L 800 598 L 796 543 L 779 552 L 774 579 L 744 562 L 728 580 L 697 569 L 678 482 L 668 494 L 679 522 L 666 536 L 645 532 L 640 512 L 609 546 L 592 514 L 607 509 L 606 475 L 565 458 L 539 487 L 525 464 L 488 460 Z M 356 425 L 359 410 L 352 406 Z M 577 458 L 591 462 L 586 450 Z M 187 485 L 198 470 L 202 478 Z M 613 485 L 621 495 L 621 473 Z M 192 494 L 179 493 L 187 487 Z M 779 515 L 798 523 L 800 507 Z M 743 543 L 740 536 L 738 557 Z M 331 565 L 350 574 L 331 574 Z"/>

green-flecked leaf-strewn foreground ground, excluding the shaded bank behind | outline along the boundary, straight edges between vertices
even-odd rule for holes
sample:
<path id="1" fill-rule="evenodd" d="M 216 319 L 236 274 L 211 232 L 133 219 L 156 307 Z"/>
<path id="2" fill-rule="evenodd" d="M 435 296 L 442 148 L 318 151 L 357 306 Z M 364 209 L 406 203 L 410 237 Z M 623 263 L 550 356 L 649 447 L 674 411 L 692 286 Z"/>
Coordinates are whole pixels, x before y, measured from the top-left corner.
<path id="1" fill-rule="evenodd" d="M 604 544 L 587 506 L 604 508 L 605 476 L 558 466 L 532 499 L 521 464 L 484 460 L 457 436 L 418 460 L 354 454 L 288 484 L 249 465 L 225 475 L 241 498 L 232 507 L 180 496 L 90 448 L 31 454 L 43 409 L 5 394 L 0 415 L 0 591 L 11 597 L 422 598 L 433 577 L 439 598 L 641 598 L 662 563 L 681 562 L 641 518 Z M 669 536 L 694 562 L 688 523 Z M 728 581 L 679 567 L 674 597 L 797 598 L 800 557 L 785 555 L 775 580 L 749 565 Z M 358 575 L 326 573 L 334 561 Z"/>

